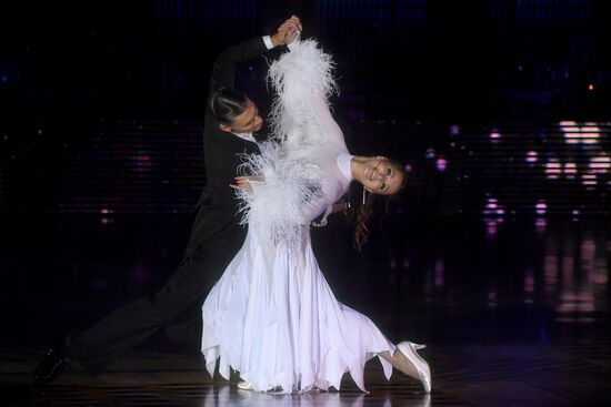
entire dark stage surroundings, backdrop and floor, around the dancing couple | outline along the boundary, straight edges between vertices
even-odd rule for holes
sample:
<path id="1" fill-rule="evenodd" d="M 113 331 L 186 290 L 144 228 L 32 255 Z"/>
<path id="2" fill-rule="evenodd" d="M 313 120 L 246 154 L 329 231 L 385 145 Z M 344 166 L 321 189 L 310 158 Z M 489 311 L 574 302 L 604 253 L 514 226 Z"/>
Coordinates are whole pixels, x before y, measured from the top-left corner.
<path id="1" fill-rule="evenodd" d="M 611 1 L 7 0 L 0 4 L 0 405 L 270 405 L 163 329 L 92 379 L 31 387 L 47 346 L 176 271 L 206 184 L 203 106 L 224 48 L 292 12 L 333 54 L 354 154 L 409 171 L 362 253 L 312 228 L 338 301 L 427 343 L 433 394 L 274 405 L 607 406 L 611 399 Z M 264 60 L 239 88 L 269 102 Z M 380 213 L 380 212 L 378 212 Z M 199 338 L 198 338 L 199 342 Z M 199 354 L 199 349 L 196 353 Z M 340 400 L 341 396 L 341 400 Z M 341 403 L 340 403 L 341 401 Z"/>

